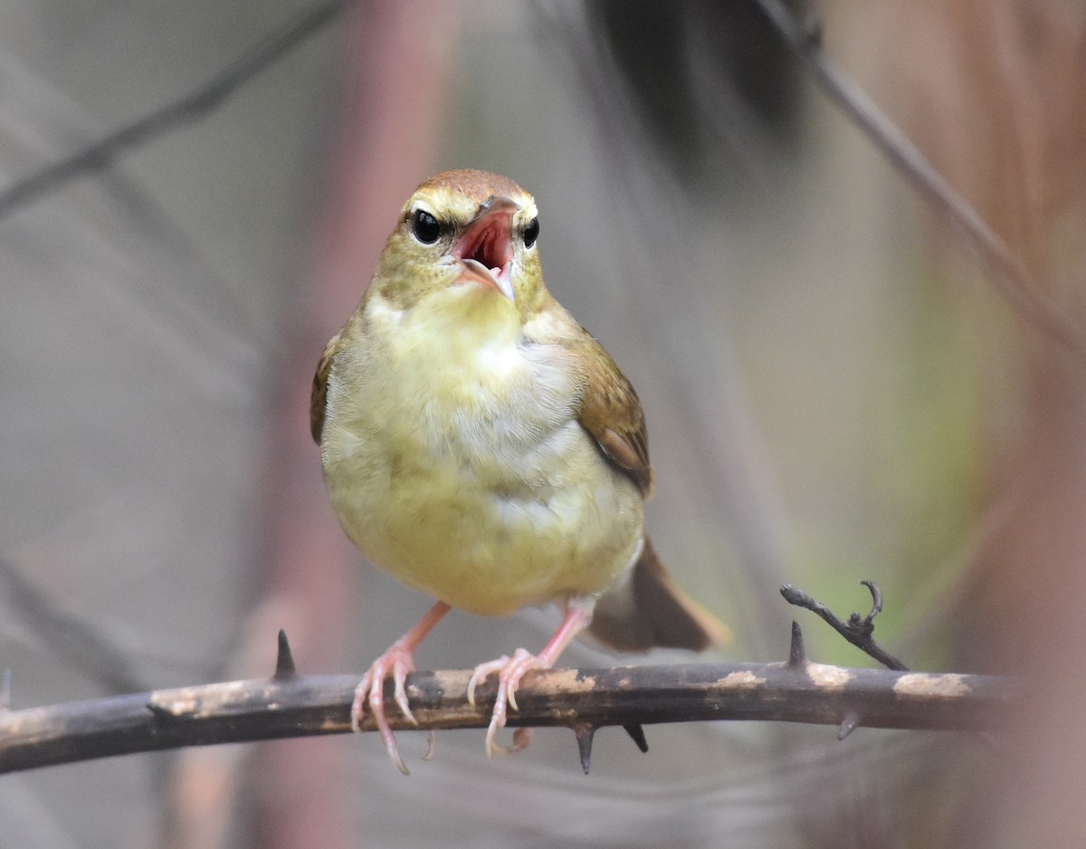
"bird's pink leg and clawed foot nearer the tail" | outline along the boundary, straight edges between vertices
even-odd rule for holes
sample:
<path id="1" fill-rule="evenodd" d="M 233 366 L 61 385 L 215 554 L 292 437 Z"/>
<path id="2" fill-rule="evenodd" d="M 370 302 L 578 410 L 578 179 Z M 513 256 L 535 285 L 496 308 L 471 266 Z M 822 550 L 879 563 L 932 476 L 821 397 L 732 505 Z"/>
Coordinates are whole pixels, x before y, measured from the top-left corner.
<path id="1" fill-rule="evenodd" d="M 513 746 L 505 748 L 494 744 L 494 735 L 505 726 L 506 706 L 517 710 L 517 687 L 520 679 L 530 669 L 551 669 L 558 656 L 570 641 L 592 622 L 592 608 L 595 599 L 576 599 L 566 605 L 566 616 L 554 632 L 551 642 L 539 655 L 532 655 L 525 648 L 518 648 L 513 657 L 503 655 L 497 660 L 480 663 L 471 672 L 468 681 L 468 701 L 475 705 L 475 688 L 487 680 L 491 672 L 497 673 L 497 698 L 494 700 L 494 712 L 491 714 L 490 727 L 487 728 L 487 757 L 493 757 L 494 749 L 510 753 L 521 751 L 531 742 L 531 728 L 517 728 L 513 735 Z"/>

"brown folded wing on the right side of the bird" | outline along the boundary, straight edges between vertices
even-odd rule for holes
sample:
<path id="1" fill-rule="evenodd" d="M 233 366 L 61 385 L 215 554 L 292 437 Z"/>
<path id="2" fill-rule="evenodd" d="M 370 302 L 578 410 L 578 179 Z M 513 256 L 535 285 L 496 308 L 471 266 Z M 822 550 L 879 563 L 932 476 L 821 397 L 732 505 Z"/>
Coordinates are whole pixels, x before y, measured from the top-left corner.
<path id="1" fill-rule="evenodd" d="M 588 379 L 578 421 L 647 498 L 653 490 L 653 467 L 641 400 L 603 345 L 584 328 L 578 329 L 580 333 L 566 342 L 580 355 Z"/>

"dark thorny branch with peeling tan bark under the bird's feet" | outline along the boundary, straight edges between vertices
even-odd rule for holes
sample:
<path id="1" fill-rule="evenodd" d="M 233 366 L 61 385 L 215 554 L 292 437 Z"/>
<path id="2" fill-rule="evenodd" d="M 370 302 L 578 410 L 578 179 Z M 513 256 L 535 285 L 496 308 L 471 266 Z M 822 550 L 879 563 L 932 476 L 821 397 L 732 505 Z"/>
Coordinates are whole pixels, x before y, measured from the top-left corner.
<path id="1" fill-rule="evenodd" d="M 798 626 L 783 663 L 706 663 L 529 672 L 510 726 L 565 725 L 583 738 L 604 725 L 747 720 L 931 731 L 1001 727 L 1018 682 L 988 675 L 848 669 L 804 658 Z M 358 677 L 294 675 L 163 689 L 0 712 L 0 773 L 114 755 L 342 734 Z M 466 698 L 470 671 L 415 672 L 407 695 L 418 719 L 396 730 L 482 728 L 495 685 Z M 387 704 L 394 706 L 391 682 Z M 846 727 L 847 726 L 847 727 Z M 374 731 L 371 718 L 364 731 Z M 589 735 L 591 737 L 591 735 Z M 585 766 L 586 766 L 586 760 Z"/>

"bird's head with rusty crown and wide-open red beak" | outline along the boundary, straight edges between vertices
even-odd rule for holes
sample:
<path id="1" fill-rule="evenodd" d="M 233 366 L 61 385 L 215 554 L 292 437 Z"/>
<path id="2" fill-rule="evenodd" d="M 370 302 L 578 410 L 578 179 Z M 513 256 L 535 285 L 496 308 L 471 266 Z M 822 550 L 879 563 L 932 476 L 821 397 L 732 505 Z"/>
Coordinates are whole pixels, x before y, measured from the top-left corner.
<path id="1" fill-rule="evenodd" d="M 372 286 L 401 308 L 438 293 L 500 297 L 525 320 L 546 297 L 539 232 L 535 200 L 513 180 L 442 172 L 404 205 Z"/>

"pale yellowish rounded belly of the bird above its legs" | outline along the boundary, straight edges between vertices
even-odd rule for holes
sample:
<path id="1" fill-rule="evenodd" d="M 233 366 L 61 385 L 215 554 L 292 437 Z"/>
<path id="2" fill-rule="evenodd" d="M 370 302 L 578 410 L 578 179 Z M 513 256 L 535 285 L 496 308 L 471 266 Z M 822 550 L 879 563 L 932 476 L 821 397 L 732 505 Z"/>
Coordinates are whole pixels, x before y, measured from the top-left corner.
<path id="1" fill-rule="evenodd" d="M 359 440 L 326 477 L 348 535 L 375 563 L 462 610 L 507 616 L 601 593 L 642 535 L 640 494 L 580 426 L 536 449 L 510 469 L 493 458 L 407 459 Z"/>

